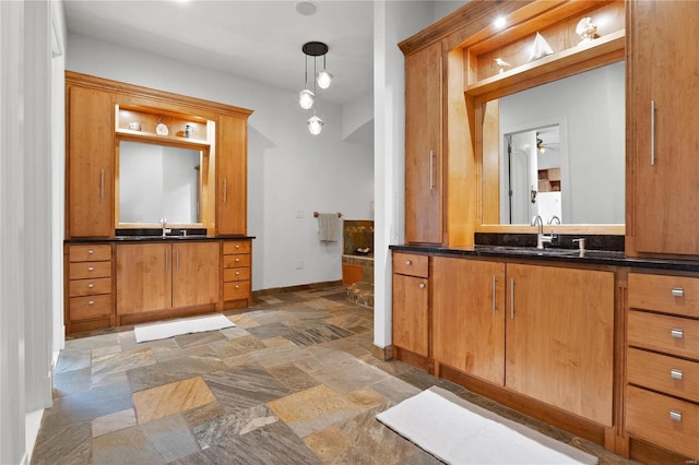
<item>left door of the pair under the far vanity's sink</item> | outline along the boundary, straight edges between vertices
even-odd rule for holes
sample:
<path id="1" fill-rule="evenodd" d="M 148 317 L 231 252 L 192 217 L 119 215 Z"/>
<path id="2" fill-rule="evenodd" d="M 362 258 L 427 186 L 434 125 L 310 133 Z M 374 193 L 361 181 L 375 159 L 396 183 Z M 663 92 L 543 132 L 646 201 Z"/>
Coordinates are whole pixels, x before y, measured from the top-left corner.
<path id="1" fill-rule="evenodd" d="M 117 245 L 117 314 L 170 308 L 171 246 Z"/>

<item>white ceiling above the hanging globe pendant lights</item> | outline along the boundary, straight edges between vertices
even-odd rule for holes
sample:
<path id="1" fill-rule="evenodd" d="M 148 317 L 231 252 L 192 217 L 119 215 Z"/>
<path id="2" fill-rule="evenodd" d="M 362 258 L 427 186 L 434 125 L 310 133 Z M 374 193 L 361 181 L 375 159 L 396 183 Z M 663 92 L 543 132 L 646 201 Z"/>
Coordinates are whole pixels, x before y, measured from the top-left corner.
<path id="1" fill-rule="evenodd" d="M 305 16 L 294 0 L 64 0 L 70 33 L 295 92 L 304 86 L 301 46 L 323 41 L 334 80 L 319 96 L 342 105 L 370 93 L 372 1 L 312 3 L 316 14 Z"/>

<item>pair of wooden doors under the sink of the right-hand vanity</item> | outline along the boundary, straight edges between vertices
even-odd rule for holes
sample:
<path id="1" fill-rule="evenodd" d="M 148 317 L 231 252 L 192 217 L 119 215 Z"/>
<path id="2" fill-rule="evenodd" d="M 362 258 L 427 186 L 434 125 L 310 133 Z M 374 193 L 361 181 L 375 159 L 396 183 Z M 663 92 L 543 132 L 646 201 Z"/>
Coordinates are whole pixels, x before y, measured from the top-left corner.
<path id="1" fill-rule="evenodd" d="M 613 425 L 614 272 L 433 260 L 436 363 Z"/>

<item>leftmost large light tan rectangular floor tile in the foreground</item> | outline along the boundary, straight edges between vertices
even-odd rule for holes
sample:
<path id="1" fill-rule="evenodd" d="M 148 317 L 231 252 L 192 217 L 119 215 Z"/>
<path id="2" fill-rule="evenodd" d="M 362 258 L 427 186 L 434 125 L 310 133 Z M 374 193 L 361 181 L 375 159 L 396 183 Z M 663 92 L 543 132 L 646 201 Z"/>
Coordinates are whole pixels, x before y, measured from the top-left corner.
<path id="1" fill-rule="evenodd" d="M 133 393 L 139 424 L 216 402 L 201 377 Z"/>

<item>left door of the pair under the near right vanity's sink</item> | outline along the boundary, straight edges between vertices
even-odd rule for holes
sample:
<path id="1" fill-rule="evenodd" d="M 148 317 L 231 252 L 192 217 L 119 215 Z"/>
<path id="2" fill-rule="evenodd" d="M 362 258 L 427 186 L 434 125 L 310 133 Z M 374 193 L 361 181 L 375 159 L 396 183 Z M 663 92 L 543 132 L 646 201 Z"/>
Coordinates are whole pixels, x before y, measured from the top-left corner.
<path id="1" fill-rule="evenodd" d="M 505 383 L 505 264 L 436 257 L 433 357 Z"/>

